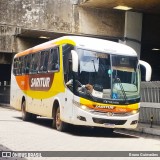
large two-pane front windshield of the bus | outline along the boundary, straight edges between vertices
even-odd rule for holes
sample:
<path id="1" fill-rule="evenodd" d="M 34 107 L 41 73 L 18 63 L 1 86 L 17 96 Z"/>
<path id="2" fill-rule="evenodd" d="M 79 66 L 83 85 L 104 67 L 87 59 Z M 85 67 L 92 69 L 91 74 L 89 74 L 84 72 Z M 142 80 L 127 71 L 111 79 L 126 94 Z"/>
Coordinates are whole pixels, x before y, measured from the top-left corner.
<path id="1" fill-rule="evenodd" d="M 86 99 L 126 101 L 139 98 L 137 57 L 118 56 L 77 49 L 79 56 L 75 88 Z"/>

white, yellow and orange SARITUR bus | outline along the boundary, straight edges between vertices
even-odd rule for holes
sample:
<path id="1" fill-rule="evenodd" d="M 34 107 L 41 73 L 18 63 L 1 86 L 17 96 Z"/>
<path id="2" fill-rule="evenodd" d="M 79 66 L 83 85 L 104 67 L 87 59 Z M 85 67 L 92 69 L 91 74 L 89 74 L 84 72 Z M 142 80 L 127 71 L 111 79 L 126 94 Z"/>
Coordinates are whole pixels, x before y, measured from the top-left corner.
<path id="1" fill-rule="evenodd" d="M 52 118 L 59 131 L 68 124 L 135 128 L 139 66 L 136 52 L 126 45 L 64 36 L 14 56 L 10 104 L 22 110 L 24 121 Z M 145 68 L 149 80 L 151 69 Z"/>

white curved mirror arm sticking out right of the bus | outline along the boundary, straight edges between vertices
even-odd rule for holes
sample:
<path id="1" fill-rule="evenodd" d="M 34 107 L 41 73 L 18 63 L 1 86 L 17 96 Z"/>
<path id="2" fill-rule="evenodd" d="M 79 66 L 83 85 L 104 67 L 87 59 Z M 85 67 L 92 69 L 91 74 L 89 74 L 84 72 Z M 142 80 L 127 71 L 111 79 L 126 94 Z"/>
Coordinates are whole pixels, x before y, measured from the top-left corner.
<path id="1" fill-rule="evenodd" d="M 151 75 L 152 75 L 152 68 L 150 66 L 149 63 L 145 62 L 145 61 L 142 61 L 142 60 L 139 60 L 139 64 L 141 66 L 143 66 L 146 70 L 146 76 L 145 76 L 145 81 L 150 81 L 151 80 Z"/>

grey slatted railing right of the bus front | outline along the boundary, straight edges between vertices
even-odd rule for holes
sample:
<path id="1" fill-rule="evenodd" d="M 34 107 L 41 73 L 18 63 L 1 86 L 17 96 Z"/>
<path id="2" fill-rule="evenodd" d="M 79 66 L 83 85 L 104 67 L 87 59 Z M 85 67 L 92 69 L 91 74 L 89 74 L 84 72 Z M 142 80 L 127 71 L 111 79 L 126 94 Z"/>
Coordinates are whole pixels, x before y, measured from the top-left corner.
<path id="1" fill-rule="evenodd" d="M 160 82 L 141 83 L 141 108 L 139 121 L 160 124 Z"/>

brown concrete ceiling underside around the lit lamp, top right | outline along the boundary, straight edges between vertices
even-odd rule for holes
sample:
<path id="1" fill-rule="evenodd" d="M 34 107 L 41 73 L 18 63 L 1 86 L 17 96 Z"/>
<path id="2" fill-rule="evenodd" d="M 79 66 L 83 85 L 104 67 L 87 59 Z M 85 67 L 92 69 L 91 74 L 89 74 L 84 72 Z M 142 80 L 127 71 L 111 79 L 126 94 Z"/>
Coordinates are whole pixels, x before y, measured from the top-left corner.
<path id="1" fill-rule="evenodd" d="M 82 0 L 80 5 L 104 9 L 124 5 L 132 7 L 130 11 L 160 14 L 160 0 Z"/>

